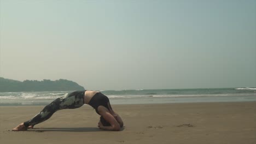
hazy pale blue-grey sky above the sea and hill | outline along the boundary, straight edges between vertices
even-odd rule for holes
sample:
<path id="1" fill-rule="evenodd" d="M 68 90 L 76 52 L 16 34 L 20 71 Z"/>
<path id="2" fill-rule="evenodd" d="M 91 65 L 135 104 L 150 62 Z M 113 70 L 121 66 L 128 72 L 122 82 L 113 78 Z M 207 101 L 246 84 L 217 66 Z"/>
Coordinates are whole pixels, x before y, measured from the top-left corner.
<path id="1" fill-rule="evenodd" d="M 0 0 L 0 77 L 256 87 L 256 1 Z"/>

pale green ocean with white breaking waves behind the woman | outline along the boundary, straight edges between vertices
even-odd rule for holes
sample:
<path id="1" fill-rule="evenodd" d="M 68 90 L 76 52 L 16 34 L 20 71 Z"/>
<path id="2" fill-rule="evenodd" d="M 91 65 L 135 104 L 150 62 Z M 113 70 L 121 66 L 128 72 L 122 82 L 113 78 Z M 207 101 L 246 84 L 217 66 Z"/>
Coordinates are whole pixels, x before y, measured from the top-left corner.
<path id="1" fill-rule="evenodd" d="M 72 91 L 0 92 L 0 106 L 47 105 Z M 111 104 L 256 101 L 256 88 L 134 89 L 101 91 Z"/>

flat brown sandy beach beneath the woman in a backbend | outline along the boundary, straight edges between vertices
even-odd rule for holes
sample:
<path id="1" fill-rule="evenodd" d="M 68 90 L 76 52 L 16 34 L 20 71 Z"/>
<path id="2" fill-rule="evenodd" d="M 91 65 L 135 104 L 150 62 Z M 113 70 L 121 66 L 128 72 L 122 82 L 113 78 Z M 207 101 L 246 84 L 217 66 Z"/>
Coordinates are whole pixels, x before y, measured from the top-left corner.
<path id="1" fill-rule="evenodd" d="M 9 143 L 256 143 L 256 102 L 113 105 L 121 131 L 97 128 L 92 107 L 57 111 L 27 131 L 11 131 L 43 106 L 1 106 L 0 142 Z"/>

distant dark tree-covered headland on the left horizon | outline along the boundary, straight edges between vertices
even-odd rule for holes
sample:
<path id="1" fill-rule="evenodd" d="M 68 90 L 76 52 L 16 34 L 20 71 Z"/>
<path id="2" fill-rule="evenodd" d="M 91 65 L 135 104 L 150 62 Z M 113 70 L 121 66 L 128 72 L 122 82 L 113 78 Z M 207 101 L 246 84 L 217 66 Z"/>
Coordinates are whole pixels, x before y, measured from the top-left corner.
<path id="1" fill-rule="evenodd" d="M 25 80 L 23 82 L 0 77 L 0 92 L 77 91 L 84 87 L 68 80 Z"/>

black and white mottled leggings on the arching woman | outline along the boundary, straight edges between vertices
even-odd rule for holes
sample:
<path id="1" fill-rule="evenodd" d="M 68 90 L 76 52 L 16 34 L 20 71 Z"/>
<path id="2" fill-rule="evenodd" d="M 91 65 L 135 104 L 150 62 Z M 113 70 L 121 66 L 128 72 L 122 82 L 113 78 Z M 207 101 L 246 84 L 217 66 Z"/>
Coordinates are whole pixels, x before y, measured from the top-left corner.
<path id="1" fill-rule="evenodd" d="M 75 91 L 60 98 L 55 99 L 49 105 L 46 105 L 42 111 L 27 122 L 24 122 L 25 127 L 36 125 L 49 119 L 54 112 L 62 109 L 76 109 L 84 105 L 84 92 Z"/>

